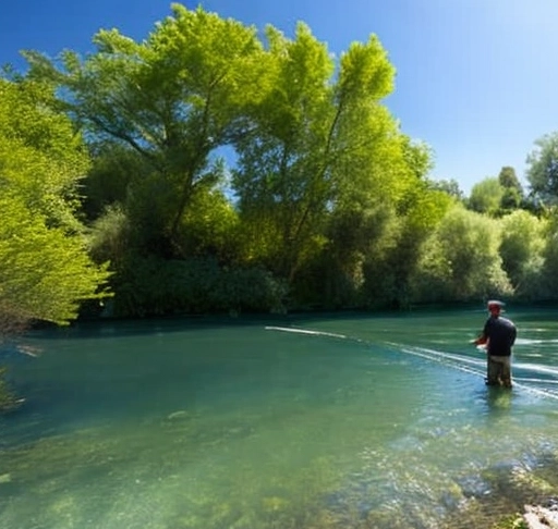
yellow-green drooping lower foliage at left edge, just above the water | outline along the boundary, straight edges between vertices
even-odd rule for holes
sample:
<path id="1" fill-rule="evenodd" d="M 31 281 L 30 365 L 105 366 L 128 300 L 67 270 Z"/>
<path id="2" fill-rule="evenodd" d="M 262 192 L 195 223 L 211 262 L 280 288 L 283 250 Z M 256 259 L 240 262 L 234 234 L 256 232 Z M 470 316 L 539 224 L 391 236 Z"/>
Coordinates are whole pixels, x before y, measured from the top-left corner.
<path id="1" fill-rule="evenodd" d="M 101 296 L 105 268 L 94 266 L 81 235 L 48 227 L 16 197 L 0 197 L 0 316 L 66 323 L 80 303 Z"/>

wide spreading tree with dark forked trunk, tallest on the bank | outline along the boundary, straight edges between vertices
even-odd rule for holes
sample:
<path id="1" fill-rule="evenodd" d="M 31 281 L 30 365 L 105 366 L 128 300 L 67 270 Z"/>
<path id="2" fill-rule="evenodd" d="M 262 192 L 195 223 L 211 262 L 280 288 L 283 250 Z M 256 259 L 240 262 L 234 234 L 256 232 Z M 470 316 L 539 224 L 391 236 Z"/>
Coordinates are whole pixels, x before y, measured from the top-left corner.
<path id="1" fill-rule="evenodd" d="M 94 37 L 84 59 L 65 51 L 60 67 L 26 52 L 32 78 L 48 78 L 66 110 L 95 138 L 133 149 L 150 165 L 134 182 L 134 224 L 156 232 L 146 246 L 177 251 L 184 212 L 198 187 L 221 174 L 215 151 L 242 135 L 248 108 L 265 94 L 266 54 L 256 29 L 202 8 L 172 5 L 142 42 L 117 29 Z M 157 225 L 154 225 L 157 219 Z M 158 241 L 158 242 L 157 242 Z"/>

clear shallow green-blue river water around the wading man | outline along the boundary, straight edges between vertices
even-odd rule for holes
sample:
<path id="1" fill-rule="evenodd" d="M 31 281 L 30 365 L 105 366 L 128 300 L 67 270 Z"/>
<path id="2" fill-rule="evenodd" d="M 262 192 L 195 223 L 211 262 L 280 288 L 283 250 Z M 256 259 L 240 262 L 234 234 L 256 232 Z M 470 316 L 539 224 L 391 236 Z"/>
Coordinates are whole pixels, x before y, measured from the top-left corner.
<path id="1" fill-rule="evenodd" d="M 483 311 L 33 333 L 0 527 L 489 527 L 558 492 L 557 316 L 510 312 L 511 392 L 468 344 Z"/>

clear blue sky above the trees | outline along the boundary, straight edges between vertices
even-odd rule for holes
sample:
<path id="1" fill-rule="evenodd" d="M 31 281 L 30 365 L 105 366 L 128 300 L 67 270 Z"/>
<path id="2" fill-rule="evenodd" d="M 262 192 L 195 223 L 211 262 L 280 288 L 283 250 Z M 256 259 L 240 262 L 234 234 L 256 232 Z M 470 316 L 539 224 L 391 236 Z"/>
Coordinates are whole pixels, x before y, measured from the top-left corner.
<path id="1" fill-rule="evenodd" d="M 511 165 L 523 179 L 536 138 L 558 130 L 558 0 L 186 0 L 292 35 L 298 21 L 339 54 L 376 34 L 397 69 L 386 103 L 436 155 L 433 177 L 471 186 Z M 92 50 L 99 28 L 143 39 L 167 0 L 2 0 L 0 64 L 19 50 Z"/>

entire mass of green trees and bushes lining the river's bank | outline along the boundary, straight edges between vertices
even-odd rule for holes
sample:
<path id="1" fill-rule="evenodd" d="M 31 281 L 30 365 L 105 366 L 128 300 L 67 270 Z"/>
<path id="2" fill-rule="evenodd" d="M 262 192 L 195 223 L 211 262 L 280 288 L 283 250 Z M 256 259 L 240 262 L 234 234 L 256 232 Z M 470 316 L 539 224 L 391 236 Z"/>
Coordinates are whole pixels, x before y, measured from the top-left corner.
<path id="1" fill-rule="evenodd" d="M 381 103 L 395 69 L 376 36 L 338 62 L 303 23 L 293 38 L 272 26 L 265 38 L 173 4 L 142 41 L 111 29 L 85 57 L 27 52 L 29 73 L 0 85 L 10 109 L 0 112 L 0 185 L 17 188 L 3 207 L 21 230 L 34 226 L 26 241 L 60 246 L 69 236 L 76 246 L 60 262 L 90 266 L 92 284 L 101 281 L 105 271 L 74 258 L 86 243 L 81 206 L 92 256 L 111 261 L 126 315 L 267 310 L 280 296 L 262 270 L 286 281 L 301 307 L 558 291 L 555 224 L 519 214 L 527 202 L 513 168 L 473 187 L 466 205 L 477 214 L 447 213 L 462 193 L 454 181 L 428 180 L 430 148 Z M 548 202 L 556 138 L 537 145 L 530 180 Z M 236 161 L 232 194 L 222 187 L 223 149 Z M 22 266 L 12 246 L 28 249 L 5 245 Z M 54 254 L 45 255 L 52 268 Z M 251 273 L 262 299 L 244 284 Z"/>

